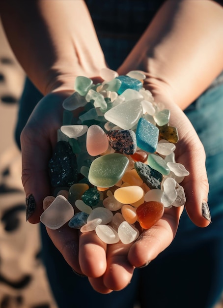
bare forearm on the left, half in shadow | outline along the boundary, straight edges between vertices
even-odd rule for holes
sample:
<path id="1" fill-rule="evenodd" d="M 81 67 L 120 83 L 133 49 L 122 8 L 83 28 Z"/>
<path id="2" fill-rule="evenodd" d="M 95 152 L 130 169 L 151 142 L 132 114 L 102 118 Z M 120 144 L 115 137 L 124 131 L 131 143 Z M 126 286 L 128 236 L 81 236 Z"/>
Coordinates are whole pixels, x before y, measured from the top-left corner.
<path id="1" fill-rule="evenodd" d="M 12 50 L 43 94 L 105 66 L 84 1 L 3 0 L 0 11 Z"/>

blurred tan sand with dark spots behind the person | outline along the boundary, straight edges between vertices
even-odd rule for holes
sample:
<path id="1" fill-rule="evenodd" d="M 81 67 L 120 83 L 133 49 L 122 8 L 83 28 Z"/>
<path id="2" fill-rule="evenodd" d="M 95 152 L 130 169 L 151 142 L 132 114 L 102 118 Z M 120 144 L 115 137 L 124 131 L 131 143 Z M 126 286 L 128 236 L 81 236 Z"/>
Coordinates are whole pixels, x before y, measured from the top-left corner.
<path id="1" fill-rule="evenodd" d="M 23 84 L 24 72 L 0 24 L 0 308 L 56 308 L 40 258 L 38 225 L 26 222 L 21 154 L 14 142 Z M 215 308 L 223 308 L 223 301 Z"/>

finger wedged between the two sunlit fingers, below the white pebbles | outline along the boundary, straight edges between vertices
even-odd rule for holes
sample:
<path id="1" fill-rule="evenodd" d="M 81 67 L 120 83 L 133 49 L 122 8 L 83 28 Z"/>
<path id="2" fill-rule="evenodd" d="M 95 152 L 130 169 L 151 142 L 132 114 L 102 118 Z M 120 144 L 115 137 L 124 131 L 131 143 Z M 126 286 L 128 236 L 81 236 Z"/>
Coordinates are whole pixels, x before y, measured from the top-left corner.
<path id="1" fill-rule="evenodd" d="M 107 248 L 107 270 L 104 284 L 111 290 L 122 290 L 131 281 L 135 267 L 128 260 L 128 252 L 132 244 L 117 243 Z"/>

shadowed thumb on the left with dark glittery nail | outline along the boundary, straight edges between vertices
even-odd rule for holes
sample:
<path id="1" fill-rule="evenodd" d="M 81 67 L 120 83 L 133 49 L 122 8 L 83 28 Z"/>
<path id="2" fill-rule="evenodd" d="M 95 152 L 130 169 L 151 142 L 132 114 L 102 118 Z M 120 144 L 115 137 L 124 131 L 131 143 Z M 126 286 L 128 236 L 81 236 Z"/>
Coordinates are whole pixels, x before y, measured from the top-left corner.
<path id="1" fill-rule="evenodd" d="M 39 101 L 21 134 L 22 183 L 27 220 L 39 222 L 43 199 L 52 194 L 48 164 L 62 123 L 62 102 L 70 92 L 54 92 Z"/>

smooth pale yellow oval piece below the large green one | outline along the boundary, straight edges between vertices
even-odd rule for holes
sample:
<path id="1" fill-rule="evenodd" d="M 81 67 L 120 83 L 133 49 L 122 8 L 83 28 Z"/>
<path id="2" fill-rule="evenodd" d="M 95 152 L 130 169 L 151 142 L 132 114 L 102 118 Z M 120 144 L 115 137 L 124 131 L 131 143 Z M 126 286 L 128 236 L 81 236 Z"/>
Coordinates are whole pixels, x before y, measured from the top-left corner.
<path id="1" fill-rule="evenodd" d="M 114 191 L 116 200 L 123 204 L 132 204 L 139 201 L 144 196 L 144 191 L 139 186 L 126 186 L 117 188 Z"/>

